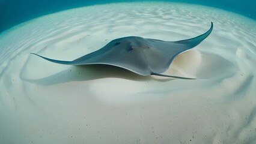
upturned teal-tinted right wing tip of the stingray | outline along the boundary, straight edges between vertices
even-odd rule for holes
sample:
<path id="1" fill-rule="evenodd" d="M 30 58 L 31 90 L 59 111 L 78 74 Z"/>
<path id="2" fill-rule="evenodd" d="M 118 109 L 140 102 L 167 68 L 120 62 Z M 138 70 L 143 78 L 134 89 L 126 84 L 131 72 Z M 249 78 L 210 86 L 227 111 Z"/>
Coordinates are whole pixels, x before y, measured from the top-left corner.
<path id="1" fill-rule="evenodd" d="M 211 22 L 210 29 L 207 32 L 205 32 L 204 34 L 201 34 L 197 37 L 190 38 L 187 40 L 175 41 L 174 43 L 183 44 L 183 46 L 186 46 L 187 49 L 191 49 L 191 48 L 197 46 L 198 44 L 200 44 L 204 39 L 206 39 L 208 37 L 208 35 L 210 35 L 212 30 L 213 30 L 213 22 Z"/>

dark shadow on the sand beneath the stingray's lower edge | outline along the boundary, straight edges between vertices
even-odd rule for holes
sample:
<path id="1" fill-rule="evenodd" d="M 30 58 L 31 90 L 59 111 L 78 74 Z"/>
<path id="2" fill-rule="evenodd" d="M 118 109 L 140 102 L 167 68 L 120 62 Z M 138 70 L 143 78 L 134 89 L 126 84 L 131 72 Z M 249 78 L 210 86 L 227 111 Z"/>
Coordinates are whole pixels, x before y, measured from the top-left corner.
<path id="1" fill-rule="evenodd" d="M 124 68 L 103 64 L 73 66 L 69 67 L 69 69 L 67 70 L 60 71 L 58 73 L 52 74 L 51 76 L 43 77 L 41 79 L 29 79 L 22 76 L 20 77 L 26 82 L 32 82 L 36 83 L 37 85 L 43 86 L 105 78 L 127 79 L 137 82 L 145 82 L 149 80 L 166 82 L 169 80 L 174 80 L 174 78 L 171 77 L 157 79 L 156 76 L 141 76 Z"/>

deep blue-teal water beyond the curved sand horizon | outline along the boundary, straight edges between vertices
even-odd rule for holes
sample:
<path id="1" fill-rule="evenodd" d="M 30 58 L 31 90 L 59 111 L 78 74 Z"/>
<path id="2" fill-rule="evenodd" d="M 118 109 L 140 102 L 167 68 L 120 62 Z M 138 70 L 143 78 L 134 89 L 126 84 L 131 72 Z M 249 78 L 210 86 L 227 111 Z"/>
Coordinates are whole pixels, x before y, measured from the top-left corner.
<path id="1" fill-rule="evenodd" d="M 132 1 L 132 0 L 126 0 Z M 157 0 L 154 0 L 157 1 Z M 170 0 L 171 1 L 171 0 Z M 0 32 L 5 31 L 35 17 L 43 16 L 69 8 L 82 7 L 93 4 L 121 2 L 117 0 L 0 0 Z M 221 8 L 242 14 L 256 20 L 256 0 L 173 0 L 172 2 L 186 2 Z"/>

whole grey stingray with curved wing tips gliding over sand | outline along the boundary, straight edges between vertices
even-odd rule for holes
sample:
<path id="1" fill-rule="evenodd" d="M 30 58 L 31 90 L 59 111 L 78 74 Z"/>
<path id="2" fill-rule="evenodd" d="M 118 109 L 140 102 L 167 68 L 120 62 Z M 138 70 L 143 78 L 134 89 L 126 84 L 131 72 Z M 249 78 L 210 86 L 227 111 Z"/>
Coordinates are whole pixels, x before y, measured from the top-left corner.
<path id="1" fill-rule="evenodd" d="M 95 52 L 82 56 L 73 61 L 59 61 L 40 56 L 50 62 L 66 65 L 106 64 L 121 67 L 141 76 L 163 76 L 178 79 L 194 79 L 161 74 L 168 70 L 177 55 L 200 44 L 212 32 L 210 29 L 198 37 L 180 41 L 162 41 L 142 37 L 122 37 L 112 40 L 106 46 Z"/>

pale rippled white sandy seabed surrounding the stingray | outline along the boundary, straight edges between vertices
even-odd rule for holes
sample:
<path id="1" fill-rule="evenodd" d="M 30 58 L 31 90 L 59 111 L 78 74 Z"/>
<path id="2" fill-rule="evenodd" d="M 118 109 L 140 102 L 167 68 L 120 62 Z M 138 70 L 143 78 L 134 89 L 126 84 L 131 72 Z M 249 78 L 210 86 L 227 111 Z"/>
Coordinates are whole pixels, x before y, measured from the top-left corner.
<path id="1" fill-rule="evenodd" d="M 71 61 L 115 38 L 212 34 L 167 71 Z M 256 143 L 256 22 L 200 5 L 136 2 L 49 14 L 0 35 L 0 143 Z"/>

